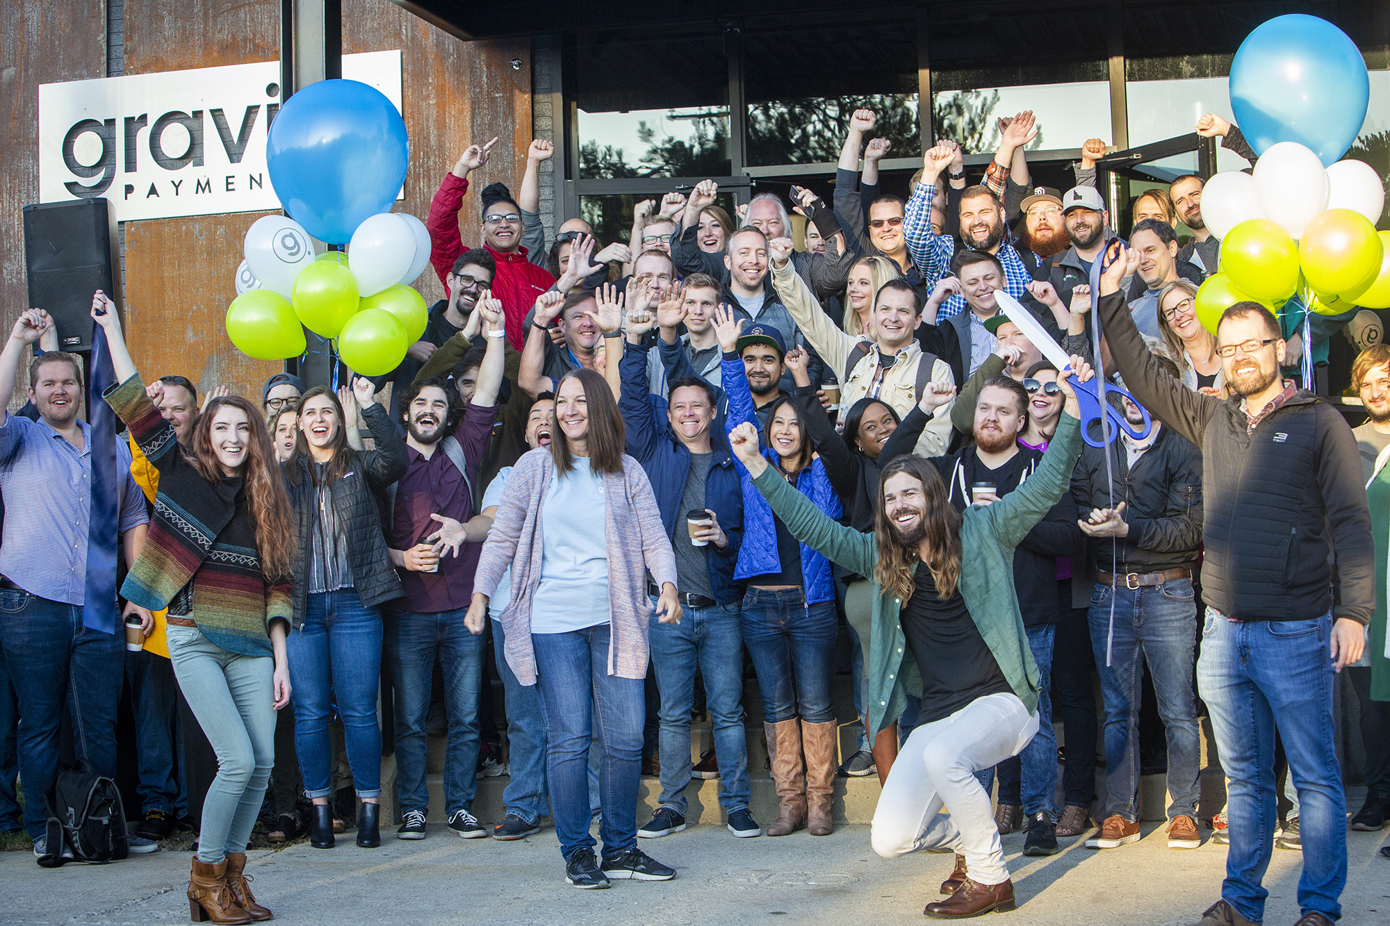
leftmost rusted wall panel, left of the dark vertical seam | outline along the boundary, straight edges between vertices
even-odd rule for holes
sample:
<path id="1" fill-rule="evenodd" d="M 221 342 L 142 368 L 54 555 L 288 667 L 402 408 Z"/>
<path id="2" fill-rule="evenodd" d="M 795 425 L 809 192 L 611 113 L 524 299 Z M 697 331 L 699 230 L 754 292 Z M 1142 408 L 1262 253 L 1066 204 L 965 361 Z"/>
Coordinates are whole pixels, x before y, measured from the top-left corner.
<path id="1" fill-rule="evenodd" d="M 93 0 L 8 0 L 0 8 L 0 324 L 25 310 L 24 214 L 39 200 L 39 85 L 106 76 L 106 14 Z M 15 407 L 28 375 L 21 368 Z"/>

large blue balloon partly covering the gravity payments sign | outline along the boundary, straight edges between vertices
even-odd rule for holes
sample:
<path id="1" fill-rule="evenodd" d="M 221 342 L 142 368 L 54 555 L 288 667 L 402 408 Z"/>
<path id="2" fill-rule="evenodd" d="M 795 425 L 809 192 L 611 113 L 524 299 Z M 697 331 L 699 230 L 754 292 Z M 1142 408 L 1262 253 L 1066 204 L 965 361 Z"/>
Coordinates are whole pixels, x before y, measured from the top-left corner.
<path id="1" fill-rule="evenodd" d="M 359 81 L 320 81 L 295 93 L 265 140 L 285 211 L 329 245 L 346 245 L 363 220 L 391 211 L 409 154 L 400 113 Z"/>

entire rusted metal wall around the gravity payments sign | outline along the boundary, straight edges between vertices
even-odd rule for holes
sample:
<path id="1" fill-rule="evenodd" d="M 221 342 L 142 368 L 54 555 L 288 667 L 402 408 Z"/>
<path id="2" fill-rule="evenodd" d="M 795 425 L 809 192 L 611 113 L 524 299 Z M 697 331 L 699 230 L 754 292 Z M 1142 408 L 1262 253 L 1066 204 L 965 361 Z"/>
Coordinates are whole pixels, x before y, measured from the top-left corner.
<path id="1" fill-rule="evenodd" d="M 0 295 L 4 325 L 24 309 L 21 207 L 38 200 L 38 85 L 106 75 L 106 10 L 100 0 L 21 0 L 0 11 Z M 125 0 L 124 74 L 217 67 L 279 57 L 278 0 Z M 474 175 L 516 188 L 531 133 L 531 63 L 525 40 L 464 43 L 389 0 L 345 0 L 343 51 L 399 49 L 410 136 L 406 199 L 421 218 L 439 179 L 473 140 L 499 135 L 489 164 Z M 518 68 L 512 60 L 520 61 Z M 470 197 L 471 199 L 471 197 Z M 146 375 L 182 374 L 208 389 L 227 384 L 257 395 L 279 368 L 250 360 L 227 339 L 224 317 L 236 296 L 232 275 L 246 229 L 264 213 L 125 222 L 126 330 Z M 475 200 L 464 241 L 475 242 Z M 416 284 L 434 302 L 432 271 Z"/>

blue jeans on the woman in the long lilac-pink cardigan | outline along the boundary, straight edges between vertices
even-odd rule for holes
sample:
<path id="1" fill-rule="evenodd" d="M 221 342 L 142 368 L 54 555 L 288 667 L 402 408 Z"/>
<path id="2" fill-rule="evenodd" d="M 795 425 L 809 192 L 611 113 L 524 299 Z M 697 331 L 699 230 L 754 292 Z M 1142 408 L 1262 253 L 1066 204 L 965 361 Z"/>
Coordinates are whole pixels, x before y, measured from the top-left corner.
<path id="1" fill-rule="evenodd" d="M 595 845 L 589 836 L 589 741 L 603 737 L 599 788 L 605 858 L 637 844 L 637 787 L 642 776 L 642 679 L 607 673 L 609 624 L 563 634 L 531 634 L 537 688 L 549 726 L 546 776 L 560 854 Z"/>

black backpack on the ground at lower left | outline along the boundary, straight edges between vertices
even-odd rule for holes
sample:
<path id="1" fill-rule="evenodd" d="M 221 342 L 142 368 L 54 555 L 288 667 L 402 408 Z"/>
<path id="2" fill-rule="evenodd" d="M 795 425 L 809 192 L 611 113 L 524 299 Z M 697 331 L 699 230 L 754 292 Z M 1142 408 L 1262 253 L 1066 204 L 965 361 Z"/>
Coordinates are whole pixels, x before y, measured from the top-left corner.
<path id="1" fill-rule="evenodd" d="M 103 865 L 129 854 L 121 791 L 86 759 L 58 769 L 51 806 L 56 816 L 49 819 L 46 854 L 39 865 L 57 868 L 71 859 Z M 61 843 L 56 844 L 58 834 Z M 65 858 L 64 850 L 71 856 Z"/>

